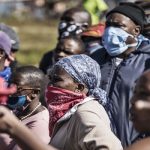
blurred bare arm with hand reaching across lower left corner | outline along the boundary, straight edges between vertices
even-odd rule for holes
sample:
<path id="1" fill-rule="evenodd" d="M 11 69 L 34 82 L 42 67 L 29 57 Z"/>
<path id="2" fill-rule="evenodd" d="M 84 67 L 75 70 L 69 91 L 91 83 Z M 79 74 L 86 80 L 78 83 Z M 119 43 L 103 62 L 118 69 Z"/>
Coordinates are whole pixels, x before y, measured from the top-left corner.
<path id="1" fill-rule="evenodd" d="M 23 150 L 56 150 L 32 135 L 32 132 L 3 106 L 0 106 L 0 132 L 9 134 Z"/>

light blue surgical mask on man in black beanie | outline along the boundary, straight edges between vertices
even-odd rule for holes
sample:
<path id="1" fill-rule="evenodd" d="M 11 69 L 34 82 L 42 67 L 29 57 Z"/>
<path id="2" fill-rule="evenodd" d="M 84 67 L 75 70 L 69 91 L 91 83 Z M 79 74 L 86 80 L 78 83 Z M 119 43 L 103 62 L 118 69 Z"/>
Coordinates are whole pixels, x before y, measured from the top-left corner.
<path id="1" fill-rule="evenodd" d="M 110 56 L 117 56 L 125 52 L 129 47 L 137 46 L 138 42 L 133 44 L 126 44 L 128 37 L 133 35 L 127 33 L 121 28 L 108 27 L 102 37 L 103 46 Z M 137 41 L 137 39 L 135 39 Z"/>

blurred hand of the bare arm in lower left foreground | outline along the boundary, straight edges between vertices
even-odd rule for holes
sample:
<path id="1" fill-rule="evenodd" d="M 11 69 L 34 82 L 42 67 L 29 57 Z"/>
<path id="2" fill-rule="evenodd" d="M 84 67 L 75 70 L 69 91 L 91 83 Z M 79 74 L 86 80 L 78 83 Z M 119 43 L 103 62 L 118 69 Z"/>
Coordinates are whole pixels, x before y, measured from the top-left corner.
<path id="1" fill-rule="evenodd" d="M 18 119 L 4 106 L 0 106 L 0 132 L 12 134 Z"/>

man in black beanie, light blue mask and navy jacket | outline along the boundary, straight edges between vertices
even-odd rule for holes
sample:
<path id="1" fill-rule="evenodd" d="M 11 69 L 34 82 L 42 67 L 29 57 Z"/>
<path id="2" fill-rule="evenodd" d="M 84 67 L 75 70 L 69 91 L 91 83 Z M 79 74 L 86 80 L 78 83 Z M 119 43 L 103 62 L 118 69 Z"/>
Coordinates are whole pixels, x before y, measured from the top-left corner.
<path id="1" fill-rule="evenodd" d="M 129 121 L 129 105 L 136 80 L 150 68 L 149 40 L 141 35 L 144 19 L 144 11 L 133 3 L 115 7 L 106 16 L 105 49 L 92 55 L 101 66 L 101 87 L 110 98 L 116 135 L 124 147 L 140 137 Z"/>

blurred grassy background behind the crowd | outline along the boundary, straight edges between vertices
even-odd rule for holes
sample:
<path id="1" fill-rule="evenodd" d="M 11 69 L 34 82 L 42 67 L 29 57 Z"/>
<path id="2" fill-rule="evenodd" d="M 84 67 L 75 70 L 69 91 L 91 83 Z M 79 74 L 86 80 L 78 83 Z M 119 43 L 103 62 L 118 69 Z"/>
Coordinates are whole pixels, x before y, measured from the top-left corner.
<path id="1" fill-rule="evenodd" d="M 110 8 L 119 0 L 106 2 Z M 80 4 L 82 0 L 0 0 L 0 21 L 13 27 L 20 37 L 20 64 L 38 65 L 42 55 L 55 47 L 62 13 Z"/>

